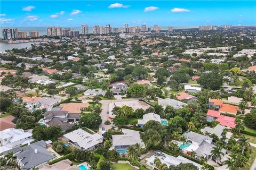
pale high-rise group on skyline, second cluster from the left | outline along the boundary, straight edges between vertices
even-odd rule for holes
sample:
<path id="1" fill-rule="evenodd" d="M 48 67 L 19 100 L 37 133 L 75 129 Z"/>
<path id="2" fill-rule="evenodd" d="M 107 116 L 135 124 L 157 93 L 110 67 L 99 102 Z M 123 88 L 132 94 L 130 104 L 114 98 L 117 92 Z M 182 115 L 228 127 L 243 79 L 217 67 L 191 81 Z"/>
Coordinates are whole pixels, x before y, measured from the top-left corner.
<path id="1" fill-rule="evenodd" d="M 61 27 L 47 27 L 47 36 L 65 36 L 65 37 L 77 37 L 79 31 L 75 31 L 73 28 L 61 28 Z"/>

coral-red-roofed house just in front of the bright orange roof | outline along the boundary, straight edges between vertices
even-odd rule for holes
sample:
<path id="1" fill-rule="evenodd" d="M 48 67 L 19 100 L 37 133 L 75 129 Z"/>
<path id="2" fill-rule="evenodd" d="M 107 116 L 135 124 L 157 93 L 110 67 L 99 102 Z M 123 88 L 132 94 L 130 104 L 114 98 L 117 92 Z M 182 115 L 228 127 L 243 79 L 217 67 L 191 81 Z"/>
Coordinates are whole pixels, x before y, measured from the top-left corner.
<path id="1" fill-rule="evenodd" d="M 235 128 L 235 117 L 229 117 L 225 115 L 220 115 L 219 111 L 208 110 L 207 112 L 207 121 L 218 121 L 220 125 L 226 126 L 228 128 Z"/>

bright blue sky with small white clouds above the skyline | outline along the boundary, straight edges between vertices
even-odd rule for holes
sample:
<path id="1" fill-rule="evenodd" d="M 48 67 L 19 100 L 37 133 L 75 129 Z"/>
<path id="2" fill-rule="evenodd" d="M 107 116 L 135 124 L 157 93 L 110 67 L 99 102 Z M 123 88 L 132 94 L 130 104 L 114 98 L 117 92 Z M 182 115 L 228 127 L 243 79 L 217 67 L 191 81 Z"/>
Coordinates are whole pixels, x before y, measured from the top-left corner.
<path id="1" fill-rule="evenodd" d="M 255 25 L 255 1 L 1 1 L 1 27 Z"/>

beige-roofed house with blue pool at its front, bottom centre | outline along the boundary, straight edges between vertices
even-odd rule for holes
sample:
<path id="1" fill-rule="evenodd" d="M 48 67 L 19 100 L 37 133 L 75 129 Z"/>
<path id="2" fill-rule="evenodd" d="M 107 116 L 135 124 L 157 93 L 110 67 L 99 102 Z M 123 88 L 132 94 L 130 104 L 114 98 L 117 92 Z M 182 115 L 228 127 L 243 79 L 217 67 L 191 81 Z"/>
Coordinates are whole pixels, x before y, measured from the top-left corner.
<path id="1" fill-rule="evenodd" d="M 112 146 L 109 150 L 117 150 L 120 155 L 127 154 L 127 148 L 129 146 L 135 146 L 139 143 L 141 148 L 145 148 L 145 143 L 140 138 L 140 132 L 129 129 L 122 129 L 124 134 L 112 135 Z"/>

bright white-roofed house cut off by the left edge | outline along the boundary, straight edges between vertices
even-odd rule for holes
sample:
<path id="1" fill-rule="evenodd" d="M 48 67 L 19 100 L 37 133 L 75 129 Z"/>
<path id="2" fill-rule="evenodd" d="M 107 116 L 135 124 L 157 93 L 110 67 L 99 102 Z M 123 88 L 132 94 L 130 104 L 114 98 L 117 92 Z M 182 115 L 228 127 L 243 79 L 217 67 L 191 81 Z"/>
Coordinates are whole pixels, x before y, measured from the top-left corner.
<path id="1" fill-rule="evenodd" d="M 0 131 L 0 134 L 0 153 L 34 141 L 32 133 L 25 132 L 22 129 L 9 128 Z"/>

